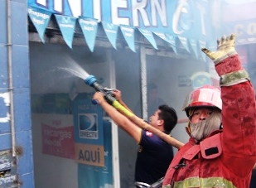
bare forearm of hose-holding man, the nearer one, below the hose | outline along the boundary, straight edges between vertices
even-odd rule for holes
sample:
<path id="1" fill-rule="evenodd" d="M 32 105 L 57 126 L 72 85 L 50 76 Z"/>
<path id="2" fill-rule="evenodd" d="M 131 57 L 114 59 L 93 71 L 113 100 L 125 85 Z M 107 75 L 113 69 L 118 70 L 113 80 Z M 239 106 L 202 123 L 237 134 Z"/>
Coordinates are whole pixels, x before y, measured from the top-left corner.
<path id="1" fill-rule="evenodd" d="M 119 113 L 113 106 L 108 104 L 102 93 L 96 92 L 93 99 L 97 100 L 98 104 L 104 108 L 104 111 L 109 114 L 109 117 L 113 119 L 118 127 L 122 128 L 126 133 L 133 137 L 136 142 L 140 142 L 142 128 L 139 128 L 122 113 Z"/>

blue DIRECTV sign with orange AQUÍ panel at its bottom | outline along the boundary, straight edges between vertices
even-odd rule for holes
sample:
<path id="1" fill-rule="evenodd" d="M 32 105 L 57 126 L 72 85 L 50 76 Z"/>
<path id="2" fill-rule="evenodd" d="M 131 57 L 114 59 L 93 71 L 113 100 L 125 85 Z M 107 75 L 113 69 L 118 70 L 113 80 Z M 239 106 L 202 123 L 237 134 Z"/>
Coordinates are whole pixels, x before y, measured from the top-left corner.
<path id="1" fill-rule="evenodd" d="M 103 109 L 90 99 L 73 101 L 75 161 L 104 166 Z"/>

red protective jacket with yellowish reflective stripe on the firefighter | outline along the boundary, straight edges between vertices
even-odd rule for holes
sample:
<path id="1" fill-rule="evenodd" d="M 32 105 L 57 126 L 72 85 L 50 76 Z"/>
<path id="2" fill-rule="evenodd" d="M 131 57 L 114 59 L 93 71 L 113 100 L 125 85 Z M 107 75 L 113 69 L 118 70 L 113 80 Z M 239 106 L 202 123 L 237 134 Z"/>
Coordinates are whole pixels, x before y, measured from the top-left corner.
<path id="1" fill-rule="evenodd" d="M 238 55 L 216 65 L 219 75 L 242 70 Z M 250 81 L 221 88 L 223 131 L 177 152 L 163 188 L 247 188 L 256 162 L 255 94 Z"/>

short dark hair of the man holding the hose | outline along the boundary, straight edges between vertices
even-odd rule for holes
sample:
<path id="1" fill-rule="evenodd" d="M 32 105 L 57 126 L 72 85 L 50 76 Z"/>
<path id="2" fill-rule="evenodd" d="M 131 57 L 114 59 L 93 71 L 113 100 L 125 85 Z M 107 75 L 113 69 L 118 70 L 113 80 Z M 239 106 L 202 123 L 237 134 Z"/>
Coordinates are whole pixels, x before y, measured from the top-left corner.
<path id="1" fill-rule="evenodd" d="M 176 126 L 178 121 L 178 117 L 176 114 L 176 110 L 168 105 L 160 105 L 158 107 L 160 113 L 158 113 L 159 119 L 164 121 L 164 129 L 165 132 L 171 133 L 171 130 Z"/>

